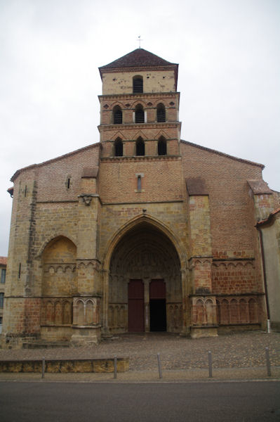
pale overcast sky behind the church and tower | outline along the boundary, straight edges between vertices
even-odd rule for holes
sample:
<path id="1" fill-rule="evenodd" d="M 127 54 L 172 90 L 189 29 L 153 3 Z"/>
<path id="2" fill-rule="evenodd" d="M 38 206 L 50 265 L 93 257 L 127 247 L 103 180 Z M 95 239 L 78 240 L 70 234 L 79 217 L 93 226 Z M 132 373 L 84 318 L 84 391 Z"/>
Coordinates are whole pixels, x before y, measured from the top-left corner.
<path id="1" fill-rule="evenodd" d="M 0 0 L 0 255 L 6 189 L 98 142 L 98 67 L 138 47 L 179 63 L 181 138 L 261 162 L 280 191 L 279 0 Z"/>

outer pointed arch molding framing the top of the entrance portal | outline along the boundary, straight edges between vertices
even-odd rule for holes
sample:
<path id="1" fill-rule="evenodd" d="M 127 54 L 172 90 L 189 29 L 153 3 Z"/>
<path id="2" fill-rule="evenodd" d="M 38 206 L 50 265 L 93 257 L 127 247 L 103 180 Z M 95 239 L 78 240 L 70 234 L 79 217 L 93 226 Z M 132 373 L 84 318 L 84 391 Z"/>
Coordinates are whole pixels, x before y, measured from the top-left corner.
<path id="1" fill-rule="evenodd" d="M 131 219 L 130 221 L 126 222 L 123 226 L 120 227 L 118 231 L 112 236 L 112 238 L 109 240 L 107 248 L 105 250 L 105 254 L 103 255 L 102 259 L 102 267 L 105 270 L 109 270 L 109 264 L 112 257 L 112 253 L 114 252 L 114 248 L 116 248 L 116 245 L 119 243 L 121 238 L 125 236 L 131 229 L 133 229 L 135 226 L 137 226 L 140 223 L 146 222 L 148 224 L 151 224 L 156 229 L 164 233 L 167 238 L 173 243 L 173 246 L 178 253 L 178 258 L 180 261 L 180 267 L 181 268 L 187 268 L 187 259 L 185 256 L 185 248 L 184 245 L 182 245 L 182 241 L 178 240 L 178 238 L 173 234 L 173 232 L 162 222 L 159 222 L 159 220 L 155 219 L 151 215 L 148 215 L 147 212 L 142 215 L 138 215 Z"/>

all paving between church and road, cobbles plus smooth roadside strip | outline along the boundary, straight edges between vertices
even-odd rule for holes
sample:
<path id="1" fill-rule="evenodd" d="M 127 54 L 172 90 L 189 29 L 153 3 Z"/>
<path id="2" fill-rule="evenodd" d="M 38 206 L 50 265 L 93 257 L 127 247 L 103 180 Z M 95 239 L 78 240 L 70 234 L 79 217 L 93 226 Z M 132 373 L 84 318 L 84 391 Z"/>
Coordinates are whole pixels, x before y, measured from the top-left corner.
<path id="1" fill-rule="evenodd" d="M 280 378 L 280 333 L 246 332 L 216 338 L 189 339 L 168 333 L 116 335 L 97 346 L 39 350 L 0 350 L 5 359 L 89 359 L 129 357 L 130 370 L 118 373 L 117 381 L 209 380 L 208 350 L 213 357 L 213 380 L 265 379 L 265 347 L 269 348 L 272 377 Z M 159 380 L 156 354 L 160 353 L 163 376 Z M 40 380 L 38 373 L 0 373 L 1 380 Z M 46 373 L 45 381 L 116 381 L 112 373 Z"/>

